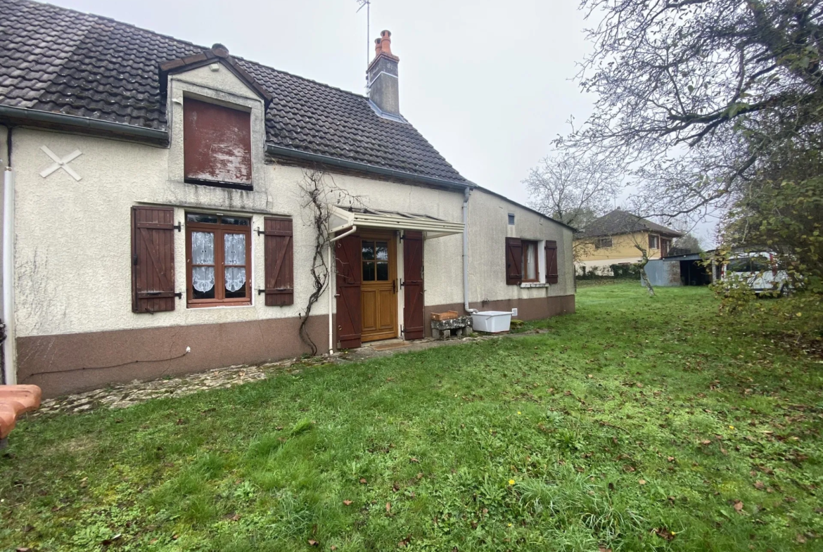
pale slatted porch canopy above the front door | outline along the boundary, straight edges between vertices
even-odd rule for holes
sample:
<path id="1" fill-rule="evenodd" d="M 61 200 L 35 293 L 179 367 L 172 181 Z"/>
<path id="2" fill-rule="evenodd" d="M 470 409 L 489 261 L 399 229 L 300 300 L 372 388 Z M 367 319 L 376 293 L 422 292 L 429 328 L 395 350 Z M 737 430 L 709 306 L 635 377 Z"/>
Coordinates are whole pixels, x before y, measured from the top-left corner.
<path id="1" fill-rule="evenodd" d="M 449 222 L 435 216 L 402 211 L 386 211 L 365 207 L 332 206 L 331 231 L 358 228 L 390 228 L 396 230 L 421 230 L 425 239 L 450 234 L 463 234 L 462 222 Z"/>

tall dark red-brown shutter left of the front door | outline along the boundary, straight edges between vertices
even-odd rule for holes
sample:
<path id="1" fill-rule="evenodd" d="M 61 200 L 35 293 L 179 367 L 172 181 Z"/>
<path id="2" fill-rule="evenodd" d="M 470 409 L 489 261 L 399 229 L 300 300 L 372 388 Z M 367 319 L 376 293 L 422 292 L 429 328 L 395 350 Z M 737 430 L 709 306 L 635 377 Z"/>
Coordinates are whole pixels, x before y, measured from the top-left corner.
<path id="1" fill-rule="evenodd" d="M 360 346 L 363 332 L 360 312 L 360 234 L 334 242 L 337 284 L 337 341 L 341 349 Z"/>

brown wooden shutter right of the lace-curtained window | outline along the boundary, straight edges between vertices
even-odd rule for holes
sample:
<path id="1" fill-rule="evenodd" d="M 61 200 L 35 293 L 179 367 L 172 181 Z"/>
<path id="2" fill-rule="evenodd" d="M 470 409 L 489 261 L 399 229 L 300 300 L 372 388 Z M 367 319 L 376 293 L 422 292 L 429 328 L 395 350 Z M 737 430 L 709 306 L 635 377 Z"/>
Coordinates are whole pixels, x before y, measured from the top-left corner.
<path id="1" fill-rule="evenodd" d="M 263 220 L 266 274 L 266 306 L 282 307 L 295 302 L 294 236 L 291 219 L 267 216 Z"/>

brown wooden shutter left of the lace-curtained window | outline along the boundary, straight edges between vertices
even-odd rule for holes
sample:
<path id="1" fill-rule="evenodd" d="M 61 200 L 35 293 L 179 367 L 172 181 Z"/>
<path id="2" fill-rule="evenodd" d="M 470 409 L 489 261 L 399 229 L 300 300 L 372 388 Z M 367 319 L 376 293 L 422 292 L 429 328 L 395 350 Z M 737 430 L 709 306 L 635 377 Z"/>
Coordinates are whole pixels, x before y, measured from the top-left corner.
<path id="1" fill-rule="evenodd" d="M 174 310 L 174 209 L 132 207 L 132 312 Z"/>

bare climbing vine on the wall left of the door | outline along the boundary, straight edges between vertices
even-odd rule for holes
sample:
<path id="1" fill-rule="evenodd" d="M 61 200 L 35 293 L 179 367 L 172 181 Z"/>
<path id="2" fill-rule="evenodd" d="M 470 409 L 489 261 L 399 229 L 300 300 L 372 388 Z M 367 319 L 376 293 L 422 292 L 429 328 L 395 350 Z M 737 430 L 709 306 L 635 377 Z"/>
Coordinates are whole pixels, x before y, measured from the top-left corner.
<path id="1" fill-rule="evenodd" d="M 306 302 L 305 316 L 300 319 L 300 340 L 309 346 L 312 355 L 317 355 L 317 344 L 312 340 L 306 325 L 314 304 L 328 287 L 331 275 L 325 253 L 326 248 L 332 246 L 331 236 L 328 235 L 332 206 L 359 206 L 361 202 L 359 196 L 339 188 L 334 179 L 322 170 L 306 170 L 299 187 L 304 222 L 314 229 L 314 254 L 309 268 L 312 292 Z"/>

